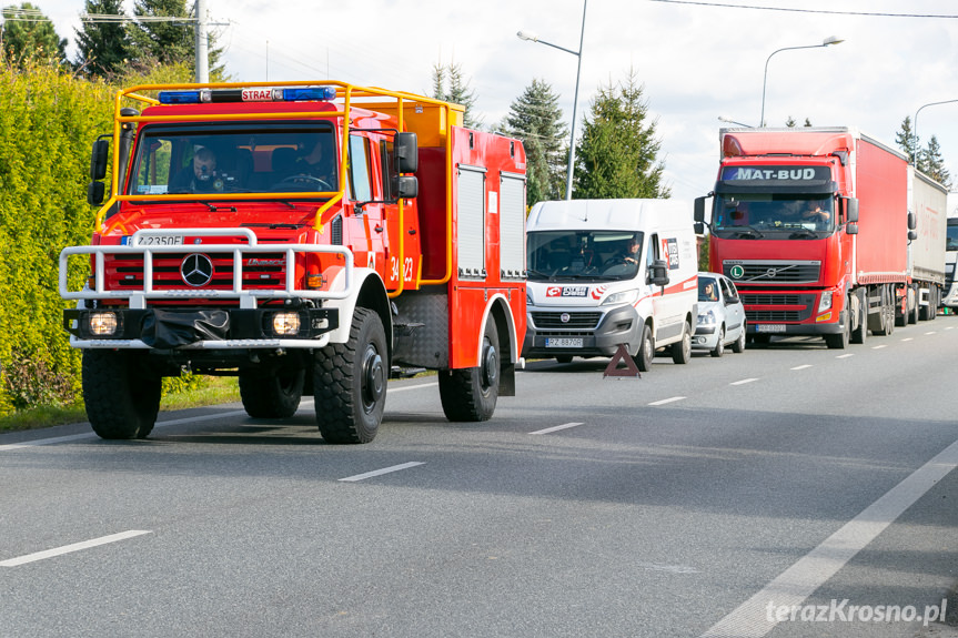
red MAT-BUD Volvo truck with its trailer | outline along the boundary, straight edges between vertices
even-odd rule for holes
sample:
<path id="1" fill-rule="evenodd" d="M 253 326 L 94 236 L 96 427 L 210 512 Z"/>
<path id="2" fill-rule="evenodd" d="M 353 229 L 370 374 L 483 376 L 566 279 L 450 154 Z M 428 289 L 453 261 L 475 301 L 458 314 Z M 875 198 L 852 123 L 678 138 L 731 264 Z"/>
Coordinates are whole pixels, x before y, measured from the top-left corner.
<path id="1" fill-rule="evenodd" d="M 851 128 L 723 129 L 719 140 L 709 267 L 742 293 L 752 340 L 820 335 L 845 348 L 869 330 L 890 334 L 896 317 L 917 321 L 922 303 L 934 318 L 945 256 L 926 240 L 945 236 L 942 186 Z"/>

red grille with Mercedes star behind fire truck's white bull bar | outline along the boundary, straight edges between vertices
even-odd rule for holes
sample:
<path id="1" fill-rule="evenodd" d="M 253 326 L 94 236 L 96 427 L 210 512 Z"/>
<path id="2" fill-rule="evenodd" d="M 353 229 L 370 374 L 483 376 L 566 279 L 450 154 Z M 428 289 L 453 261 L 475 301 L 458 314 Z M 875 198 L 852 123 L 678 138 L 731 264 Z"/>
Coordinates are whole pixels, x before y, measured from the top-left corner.
<path id="1" fill-rule="evenodd" d="M 153 290 L 232 290 L 232 253 L 203 253 L 212 262 L 212 273 L 186 261 L 195 253 L 164 253 L 153 256 Z M 243 257 L 243 288 L 281 288 L 285 284 L 285 254 L 259 253 Z M 113 290 L 143 288 L 142 255 L 108 255 L 107 287 Z M 193 273 L 193 271 L 198 271 Z"/>

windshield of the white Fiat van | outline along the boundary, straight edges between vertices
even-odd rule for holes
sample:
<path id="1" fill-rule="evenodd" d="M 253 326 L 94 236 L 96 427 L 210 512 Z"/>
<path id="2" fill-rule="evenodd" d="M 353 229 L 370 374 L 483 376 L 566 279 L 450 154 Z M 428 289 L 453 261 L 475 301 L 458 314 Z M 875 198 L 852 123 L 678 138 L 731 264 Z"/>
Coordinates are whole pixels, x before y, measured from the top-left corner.
<path id="1" fill-rule="evenodd" d="M 533 231 L 528 233 L 531 281 L 625 281 L 638 274 L 643 233 L 631 231 Z"/>

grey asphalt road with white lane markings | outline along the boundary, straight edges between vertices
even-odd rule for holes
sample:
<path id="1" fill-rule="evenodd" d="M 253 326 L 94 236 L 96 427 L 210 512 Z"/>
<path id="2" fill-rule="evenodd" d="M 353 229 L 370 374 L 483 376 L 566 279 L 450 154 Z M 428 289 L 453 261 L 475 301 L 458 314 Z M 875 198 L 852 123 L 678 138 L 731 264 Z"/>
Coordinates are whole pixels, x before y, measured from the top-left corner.
<path id="1" fill-rule="evenodd" d="M 467 425 L 392 383 L 364 446 L 307 401 L 2 435 L 0 637 L 950 636 L 956 352 L 939 317 L 641 379 L 533 362 Z"/>

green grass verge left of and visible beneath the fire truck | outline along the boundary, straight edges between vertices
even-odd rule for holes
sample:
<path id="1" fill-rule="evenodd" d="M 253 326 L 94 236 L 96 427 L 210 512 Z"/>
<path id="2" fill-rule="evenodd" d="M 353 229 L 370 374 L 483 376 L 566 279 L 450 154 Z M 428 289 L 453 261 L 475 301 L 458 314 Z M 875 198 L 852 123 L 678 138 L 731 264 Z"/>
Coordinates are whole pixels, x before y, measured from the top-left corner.
<path id="1" fill-rule="evenodd" d="M 240 387 L 235 377 L 206 377 L 200 388 L 188 388 L 164 396 L 160 402 L 160 411 L 203 407 L 236 401 L 240 401 Z M 38 429 L 84 421 L 87 421 L 87 411 L 82 403 L 62 407 L 40 406 L 0 417 L 0 433 Z"/>

